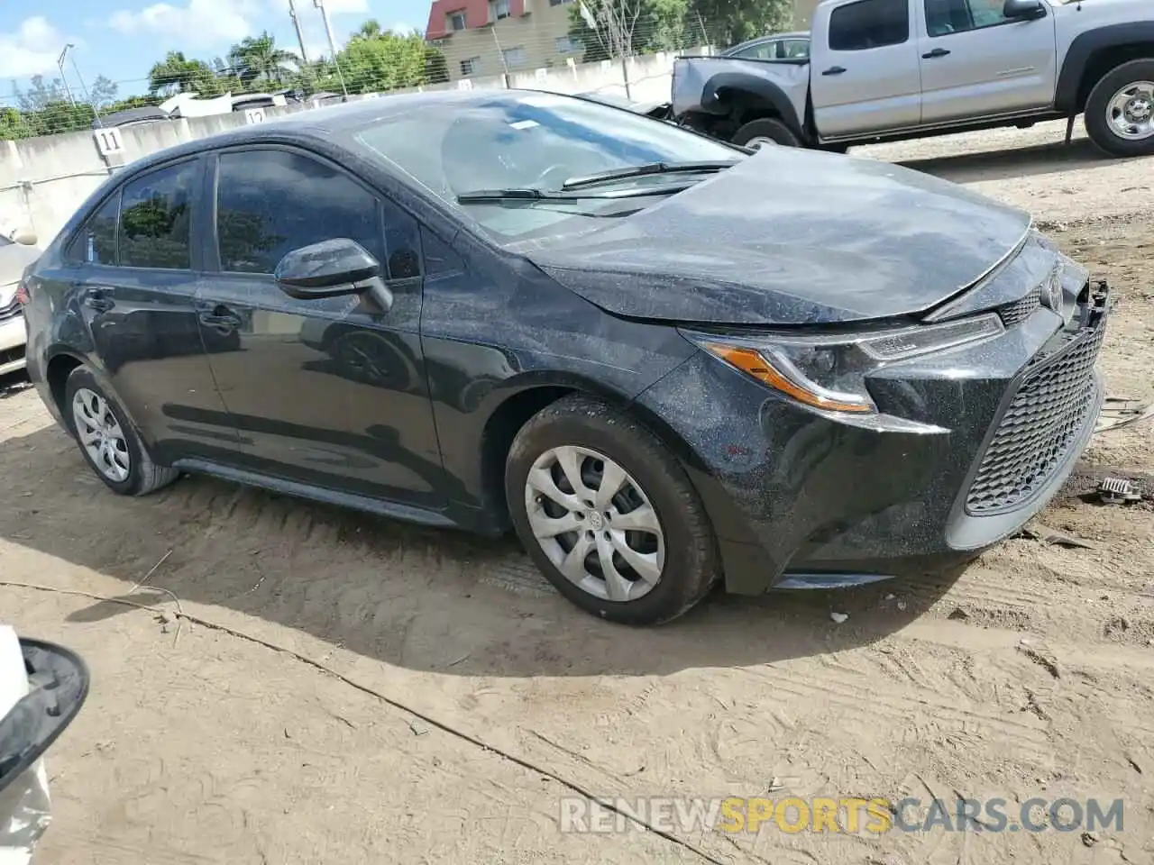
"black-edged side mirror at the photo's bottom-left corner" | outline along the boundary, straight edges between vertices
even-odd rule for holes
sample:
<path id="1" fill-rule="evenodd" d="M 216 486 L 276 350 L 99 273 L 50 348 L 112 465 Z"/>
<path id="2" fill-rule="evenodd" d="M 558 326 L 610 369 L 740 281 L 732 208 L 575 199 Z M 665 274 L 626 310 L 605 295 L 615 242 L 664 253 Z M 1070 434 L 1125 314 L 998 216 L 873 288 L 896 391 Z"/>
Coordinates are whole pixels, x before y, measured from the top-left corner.
<path id="1" fill-rule="evenodd" d="M 40 759 L 88 697 L 88 667 L 75 653 L 23 638 L 20 648 L 29 692 L 0 719 L 0 791 Z"/>

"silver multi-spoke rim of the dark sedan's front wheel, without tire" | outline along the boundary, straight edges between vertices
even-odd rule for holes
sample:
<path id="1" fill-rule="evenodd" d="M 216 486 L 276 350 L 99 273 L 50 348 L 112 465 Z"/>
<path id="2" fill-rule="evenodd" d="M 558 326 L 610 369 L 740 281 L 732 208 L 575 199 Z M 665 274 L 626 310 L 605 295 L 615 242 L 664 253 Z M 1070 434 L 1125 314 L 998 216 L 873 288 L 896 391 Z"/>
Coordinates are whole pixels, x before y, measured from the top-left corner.
<path id="1" fill-rule="evenodd" d="M 533 462 L 525 512 L 545 555 L 607 601 L 649 594 L 665 567 L 665 533 L 640 484 L 604 453 L 565 445 Z"/>

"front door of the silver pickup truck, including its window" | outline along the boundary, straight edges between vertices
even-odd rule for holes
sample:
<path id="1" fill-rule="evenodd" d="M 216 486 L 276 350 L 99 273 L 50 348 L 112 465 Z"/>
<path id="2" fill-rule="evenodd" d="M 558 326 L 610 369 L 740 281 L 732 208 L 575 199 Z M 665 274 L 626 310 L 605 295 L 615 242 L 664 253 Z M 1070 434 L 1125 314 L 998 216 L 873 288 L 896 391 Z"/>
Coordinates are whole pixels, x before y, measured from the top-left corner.
<path id="1" fill-rule="evenodd" d="M 923 123 L 1044 108 L 1054 101 L 1054 16 L 1006 18 L 1003 2 L 922 0 Z"/>

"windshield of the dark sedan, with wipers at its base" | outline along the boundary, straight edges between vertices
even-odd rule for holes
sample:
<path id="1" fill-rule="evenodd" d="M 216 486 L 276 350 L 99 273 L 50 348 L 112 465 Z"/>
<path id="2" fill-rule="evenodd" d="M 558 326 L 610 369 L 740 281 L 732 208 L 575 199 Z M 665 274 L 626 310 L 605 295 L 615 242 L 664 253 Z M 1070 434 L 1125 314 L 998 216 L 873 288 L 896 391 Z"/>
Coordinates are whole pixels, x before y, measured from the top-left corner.
<path id="1" fill-rule="evenodd" d="M 740 150 L 672 123 L 586 99 L 537 92 L 428 103 L 364 127 L 355 137 L 499 242 L 580 231 L 605 213 L 620 213 L 622 202 L 583 197 L 459 203 L 459 195 L 502 189 L 560 193 L 567 180 L 606 171 L 744 158 Z M 650 190 L 660 195 L 705 176 L 704 172 L 650 173 L 622 178 L 598 187 L 597 193 Z M 630 204 L 636 210 L 653 201 L 631 198 Z"/>

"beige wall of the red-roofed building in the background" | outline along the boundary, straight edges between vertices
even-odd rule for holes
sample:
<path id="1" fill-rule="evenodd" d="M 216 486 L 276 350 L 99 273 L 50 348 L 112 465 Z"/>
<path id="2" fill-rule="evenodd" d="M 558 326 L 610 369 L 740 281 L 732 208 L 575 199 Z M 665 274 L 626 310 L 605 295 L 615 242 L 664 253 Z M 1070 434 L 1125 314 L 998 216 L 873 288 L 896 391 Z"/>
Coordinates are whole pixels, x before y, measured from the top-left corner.
<path id="1" fill-rule="evenodd" d="M 571 0 L 557 6 L 549 0 L 525 0 L 525 8 L 527 15 L 457 30 L 435 42 L 444 53 L 449 80 L 563 66 L 565 58 L 582 61 L 584 47 L 569 43 Z"/>

